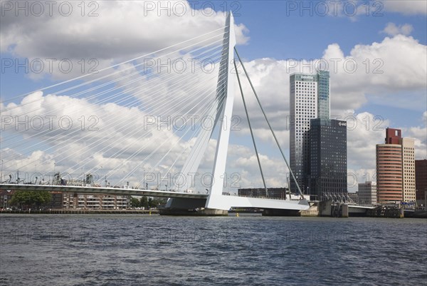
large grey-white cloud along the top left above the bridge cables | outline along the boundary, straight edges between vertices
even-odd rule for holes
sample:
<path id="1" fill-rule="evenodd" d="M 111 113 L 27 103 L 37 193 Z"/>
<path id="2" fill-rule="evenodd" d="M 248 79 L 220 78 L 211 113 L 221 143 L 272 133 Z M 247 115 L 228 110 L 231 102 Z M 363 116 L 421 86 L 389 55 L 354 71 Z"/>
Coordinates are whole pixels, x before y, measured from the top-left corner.
<path id="1" fill-rule="evenodd" d="M 15 16 L 14 9 L 2 11 L 5 15 L 1 17 L 0 51 L 28 58 L 30 62 L 43 61 L 46 65 L 43 73 L 31 74 L 35 78 L 46 76 L 49 63 L 53 63 L 54 78 L 79 76 L 82 59 L 85 72 L 93 66 L 99 71 L 112 63 L 152 53 L 211 31 L 221 33 L 226 20 L 221 12 L 194 10 L 186 1 L 165 4 L 161 1 L 92 1 L 90 9 L 86 7 L 85 16 L 81 16 L 80 2 L 62 2 L 73 7 L 69 16 L 58 12 L 59 2 L 51 15 L 47 6 L 46 13 L 41 16 L 31 13 Z M 44 5 L 44 2 L 39 3 Z M 97 3 L 97 16 L 87 16 L 95 8 L 94 3 Z M 246 44 L 246 26 L 235 25 L 235 31 L 238 44 Z M 198 41 L 213 35 L 208 34 Z M 201 42 L 197 46 L 203 45 Z M 73 72 L 60 73 L 58 65 L 63 60 L 72 61 Z"/>

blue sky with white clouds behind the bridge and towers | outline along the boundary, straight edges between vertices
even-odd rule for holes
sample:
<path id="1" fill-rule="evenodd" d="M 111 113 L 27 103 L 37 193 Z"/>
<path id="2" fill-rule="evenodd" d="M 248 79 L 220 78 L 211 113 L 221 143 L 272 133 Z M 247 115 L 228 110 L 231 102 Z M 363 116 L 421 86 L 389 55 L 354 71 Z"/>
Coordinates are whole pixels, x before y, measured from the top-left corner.
<path id="1" fill-rule="evenodd" d="M 404 137 L 414 138 L 416 159 L 427 158 L 426 1 L 17 3 L 1 1 L 3 179 L 16 176 L 17 170 L 26 174 L 27 181 L 35 173 L 48 180 L 53 171 L 68 171 L 73 178 L 95 172 L 99 182 L 108 175 L 113 185 L 124 184 L 121 179 L 130 174 L 125 181 L 138 185 L 144 172 L 179 172 L 194 136 L 164 128 L 146 133 L 140 129 L 154 111 L 162 116 L 179 111 L 199 114 L 197 104 L 208 102 L 209 97 L 198 99 L 189 90 L 196 90 L 194 83 L 201 81 L 209 82 L 205 90 L 214 90 L 216 78 L 211 73 L 190 75 L 186 71 L 181 75 L 187 76 L 186 81 L 174 78 L 173 72 L 169 78 L 151 78 L 152 93 L 145 86 L 149 79 L 133 74 L 129 78 L 135 78 L 132 85 L 142 88 L 141 93 L 125 93 L 129 97 L 116 101 L 106 97 L 93 101 L 91 93 L 73 96 L 63 87 L 88 83 L 92 78 L 102 82 L 107 71 L 90 73 L 137 58 L 114 69 L 120 71 L 115 84 L 123 90 L 127 82 L 119 76 L 137 71 L 137 63 L 157 56 L 182 56 L 176 51 L 185 50 L 180 43 L 211 31 L 222 33 L 226 11 L 233 12 L 236 48 L 287 158 L 289 76 L 314 73 L 317 63 L 327 63 L 330 71 L 331 116 L 347 120 L 350 191 L 357 190 L 357 183 L 375 180 L 375 145 L 383 143 L 387 127 L 401 128 Z M 196 57 L 196 52 L 186 56 Z M 86 74 L 90 76 L 82 77 Z M 55 86 L 77 77 L 82 78 Z M 267 185 L 283 186 L 288 170 L 246 77 L 241 79 Z M 179 88 L 172 90 L 172 85 Z M 236 186 L 262 187 L 237 85 L 235 91 L 233 115 L 240 121 L 236 121 L 238 131 L 231 131 L 225 185 L 231 192 Z M 160 93 L 163 101 L 156 99 Z M 149 106 L 150 102 L 159 103 L 162 109 Z M 189 104 L 177 111 L 178 104 L 185 102 Z M 144 108 L 138 103 L 144 103 Z M 83 133 L 77 132 L 79 128 L 74 132 L 58 126 L 43 133 L 47 124 L 45 129 L 30 124 L 24 130 L 24 123 L 17 128 L 16 121 L 25 121 L 24 116 L 29 121 L 32 118 L 32 123 L 40 118 L 48 123 L 46 116 L 56 116 L 52 122 L 57 124 L 58 118 L 68 116 Z M 94 130 L 88 130 L 90 126 Z M 215 144 L 213 138 L 201 162 L 201 173 L 211 172 Z M 151 157 L 156 150 L 157 157 Z M 171 150 L 170 158 L 157 163 L 163 158 L 162 150 Z M 184 155 L 174 159 L 181 153 Z"/>

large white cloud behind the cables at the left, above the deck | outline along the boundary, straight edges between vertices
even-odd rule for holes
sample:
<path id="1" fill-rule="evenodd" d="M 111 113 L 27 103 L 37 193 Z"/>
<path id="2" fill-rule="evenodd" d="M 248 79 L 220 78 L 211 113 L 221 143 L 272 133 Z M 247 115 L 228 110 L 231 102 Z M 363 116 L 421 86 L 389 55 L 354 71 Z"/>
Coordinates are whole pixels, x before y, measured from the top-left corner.
<path id="1" fill-rule="evenodd" d="M 2 121 L 1 126 L 5 173 L 18 169 L 33 172 L 35 165 L 38 170 L 53 172 L 56 163 L 56 171 L 73 176 L 83 172 L 109 173 L 108 177 L 117 181 L 132 173 L 130 178 L 137 183 L 144 168 L 164 171 L 160 167 L 151 170 L 164 155 L 163 150 L 171 150 L 175 158 L 186 150 L 186 143 L 172 130 L 156 125 L 144 128 L 147 113 L 138 108 L 115 103 L 97 105 L 68 96 L 43 96 L 41 92 L 24 98 L 17 108 L 12 107 L 13 104 L 1 104 L 2 119 L 11 118 Z M 18 121 L 21 125 L 16 124 Z M 151 160 L 146 160 L 149 155 Z M 132 172 L 134 168 L 136 173 Z"/>

